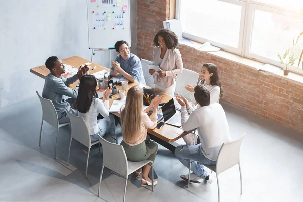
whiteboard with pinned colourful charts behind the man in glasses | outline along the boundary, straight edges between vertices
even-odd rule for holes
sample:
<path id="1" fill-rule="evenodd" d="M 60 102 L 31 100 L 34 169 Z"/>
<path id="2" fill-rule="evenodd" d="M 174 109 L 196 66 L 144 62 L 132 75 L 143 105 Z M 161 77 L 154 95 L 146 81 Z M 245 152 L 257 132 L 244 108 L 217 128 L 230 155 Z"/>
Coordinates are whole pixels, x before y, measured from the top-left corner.
<path id="1" fill-rule="evenodd" d="M 114 48 L 119 40 L 130 38 L 129 0 L 87 0 L 89 48 Z"/>

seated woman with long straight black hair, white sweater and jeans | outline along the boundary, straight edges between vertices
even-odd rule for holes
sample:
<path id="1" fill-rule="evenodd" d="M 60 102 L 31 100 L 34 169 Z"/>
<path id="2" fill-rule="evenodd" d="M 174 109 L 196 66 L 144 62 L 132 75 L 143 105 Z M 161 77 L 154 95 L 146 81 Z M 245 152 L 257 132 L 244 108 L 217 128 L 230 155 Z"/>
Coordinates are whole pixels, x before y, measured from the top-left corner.
<path id="1" fill-rule="evenodd" d="M 98 98 L 96 92 L 97 81 L 93 75 L 84 75 L 80 79 L 79 92 L 76 100 L 79 117 L 83 117 L 90 133 L 91 142 L 97 141 L 98 135 L 106 132 L 115 133 L 115 119 L 110 114 L 109 95 L 112 90 L 107 88 L 103 99 Z M 98 114 L 104 118 L 97 119 Z"/>

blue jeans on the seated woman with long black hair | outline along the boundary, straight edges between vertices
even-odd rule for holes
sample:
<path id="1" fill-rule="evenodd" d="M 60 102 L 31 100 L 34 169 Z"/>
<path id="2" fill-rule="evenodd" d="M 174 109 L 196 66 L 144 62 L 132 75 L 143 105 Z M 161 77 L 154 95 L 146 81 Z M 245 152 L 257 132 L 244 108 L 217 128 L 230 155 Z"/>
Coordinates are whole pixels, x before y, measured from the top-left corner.
<path id="1" fill-rule="evenodd" d="M 110 119 L 110 121 L 107 120 L 108 118 Z M 115 134 L 115 128 L 116 128 L 115 117 L 114 117 L 114 115 L 110 114 L 108 116 L 108 118 L 103 118 L 103 119 L 98 120 L 97 124 L 99 127 L 99 132 L 94 135 L 90 135 L 91 142 L 98 141 L 99 140 L 98 135 L 103 137 L 104 134 L 107 132 Z"/>

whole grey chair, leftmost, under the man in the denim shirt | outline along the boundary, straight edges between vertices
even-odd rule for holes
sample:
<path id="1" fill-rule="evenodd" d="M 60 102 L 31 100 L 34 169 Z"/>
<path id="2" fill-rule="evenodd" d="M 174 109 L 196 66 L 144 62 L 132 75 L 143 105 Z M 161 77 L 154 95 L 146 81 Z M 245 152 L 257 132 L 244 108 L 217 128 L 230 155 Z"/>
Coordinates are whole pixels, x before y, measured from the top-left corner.
<path id="1" fill-rule="evenodd" d="M 52 100 L 43 98 L 38 93 L 38 91 L 36 91 L 36 93 L 37 93 L 37 95 L 40 99 L 41 105 L 42 105 L 42 123 L 41 123 L 41 129 L 40 129 L 39 146 L 41 146 L 41 135 L 42 135 L 43 122 L 46 121 L 47 123 L 51 124 L 54 128 L 57 129 L 56 140 L 55 140 L 55 151 L 54 151 L 54 158 L 56 158 L 56 144 L 57 144 L 58 130 L 60 127 L 69 125 L 70 123 L 59 124 L 57 112 L 52 103 Z"/>

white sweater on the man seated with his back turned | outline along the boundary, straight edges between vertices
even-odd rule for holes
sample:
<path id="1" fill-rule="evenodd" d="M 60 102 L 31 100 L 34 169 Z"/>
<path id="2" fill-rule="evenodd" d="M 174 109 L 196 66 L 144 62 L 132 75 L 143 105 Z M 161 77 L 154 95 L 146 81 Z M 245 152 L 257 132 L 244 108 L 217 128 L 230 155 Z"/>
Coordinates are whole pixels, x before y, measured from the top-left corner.
<path id="1" fill-rule="evenodd" d="M 219 103 L 194 110 L 188 117 L 186 107 L 181 107 L 181 123 L 184 131 L 197 128 L 203 155 L 217 161 L 223 143 L 230 141 L 225 112 Z"/>

